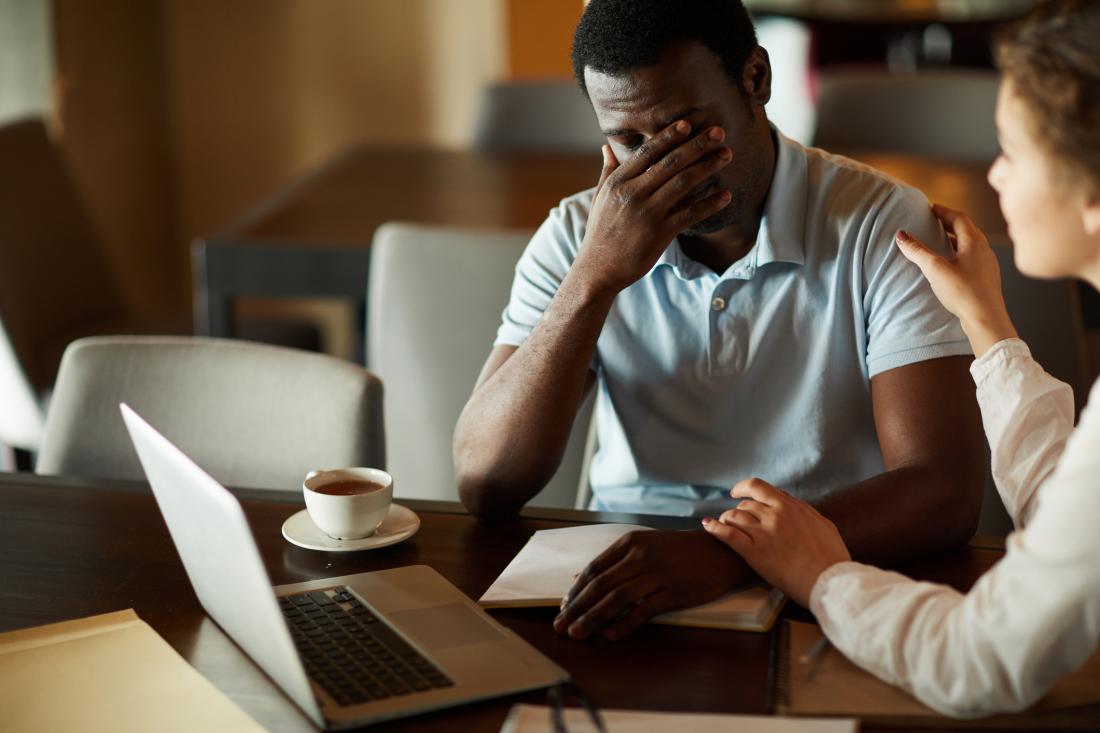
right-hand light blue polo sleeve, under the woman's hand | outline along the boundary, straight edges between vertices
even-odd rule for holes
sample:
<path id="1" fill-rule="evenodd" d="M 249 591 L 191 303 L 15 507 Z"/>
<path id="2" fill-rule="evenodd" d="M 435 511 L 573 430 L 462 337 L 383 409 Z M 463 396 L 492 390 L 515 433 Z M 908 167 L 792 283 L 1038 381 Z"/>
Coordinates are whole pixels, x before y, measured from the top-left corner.
<path id="1" fill-rule="evenodd" d="M 949 251 L 924 195 L 909 186 L 894 187 L 871 219 L 864 255 L 868 378 L 927 359 L 972 353 L 958 319 L 894 243 L 899 229 L 941 254 Z"/>

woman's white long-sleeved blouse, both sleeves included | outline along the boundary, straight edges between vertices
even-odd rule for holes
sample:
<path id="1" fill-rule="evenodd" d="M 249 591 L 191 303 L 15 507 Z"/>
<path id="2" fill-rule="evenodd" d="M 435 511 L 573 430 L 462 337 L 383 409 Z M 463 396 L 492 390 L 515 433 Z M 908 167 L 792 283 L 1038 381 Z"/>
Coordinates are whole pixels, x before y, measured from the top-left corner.
<path id="1" fill-rule="evenodd" d="M 1074 430 L 1068 385 L 1019 339 L 970 368 L 993 479 L 1018 532 L 967 594 L 858 562 L 810 599 L 849 659 L 958 718 L 1023 710 L 1100 641 L 1100 380 Z"/>

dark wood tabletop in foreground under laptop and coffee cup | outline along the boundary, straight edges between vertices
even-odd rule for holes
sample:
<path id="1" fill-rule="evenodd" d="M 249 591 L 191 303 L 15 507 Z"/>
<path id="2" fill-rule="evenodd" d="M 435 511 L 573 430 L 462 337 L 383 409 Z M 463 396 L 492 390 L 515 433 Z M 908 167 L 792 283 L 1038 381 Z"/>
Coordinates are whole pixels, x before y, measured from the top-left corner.
<path id="1" fill-rule="evenodd" d="M 566 510 L 527 510 L 515 521 L 485 523 L 458 504 L 403 501 L 422 523 L 414 537 L 377 550 L 327 554 L 292 546 L 279 534 L 284 519 L 301 508 L 299 495 L 235 493 L 273 583 L 425 564 L 472 598 L 537 529 L 602 521 L 697 526 L 691 519 Z M 971 546 L 906 569 L 965 589 L 999 557 L 997 550 Z M 0 631 L 127 608 L 268 730 L 315 730 L 205 615 L 146 485 L 0 473 Z M 601 707 L 768 711 L 772 634 L 653 625 L 614 644 L 573 642 L 551 628 L 552 610 L 493 615 L 565 668 Z M 809 617 L 791 604 L 784 615 Z M 474 703 L 371 730 L 495 732 L 518 701 L 544 703 L 546 696 Z"/>

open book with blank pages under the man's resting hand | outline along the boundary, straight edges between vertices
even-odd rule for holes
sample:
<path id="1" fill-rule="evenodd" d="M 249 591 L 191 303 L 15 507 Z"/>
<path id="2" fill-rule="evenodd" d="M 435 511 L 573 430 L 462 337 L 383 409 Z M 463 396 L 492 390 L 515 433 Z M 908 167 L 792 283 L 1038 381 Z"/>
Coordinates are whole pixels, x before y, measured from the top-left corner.
<path id="1" fill-rule="evenodd" d="M 479 603 L 486 609 L 557 606 L 584 567 L 623 535 L 650 529 L 634 524 L 590 524 L 536 532 Z M 766 632 L 785 597 L 751 586 L 692 609 L 670 611 L 654 623 Z"/>

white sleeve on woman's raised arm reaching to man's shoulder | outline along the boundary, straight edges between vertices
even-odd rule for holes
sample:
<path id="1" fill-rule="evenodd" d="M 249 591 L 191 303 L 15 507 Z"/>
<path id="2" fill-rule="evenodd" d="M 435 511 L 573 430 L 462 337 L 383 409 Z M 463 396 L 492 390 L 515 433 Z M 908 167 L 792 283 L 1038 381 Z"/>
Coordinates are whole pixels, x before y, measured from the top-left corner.
<path id="1" fill-rule="evenodd" d="M 970 373 L 978 386 L 993 482 L 1019 528 L 1034 514 L 1041 486 L 1074 431 L 1074 392 L 1043 371 L 1020 339 L 993 346 Z"/>

